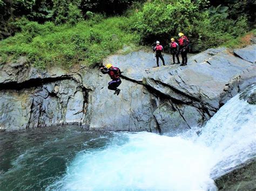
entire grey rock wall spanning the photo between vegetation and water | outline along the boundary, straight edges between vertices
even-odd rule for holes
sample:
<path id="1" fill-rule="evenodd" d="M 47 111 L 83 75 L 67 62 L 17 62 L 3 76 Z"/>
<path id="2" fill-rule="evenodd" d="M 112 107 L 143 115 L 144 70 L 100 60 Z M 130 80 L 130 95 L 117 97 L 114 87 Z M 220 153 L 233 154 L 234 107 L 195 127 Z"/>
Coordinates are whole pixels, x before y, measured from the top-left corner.
<path id="1" fill-rule="evenodd" d="M 79 124 L 88 130 L 177 133 L 203 126 L 240 90 L 255 83 L 255 63 L 241 52 L 216 48 L 190 56 L 187 66 L 156 66 L 138 51 L 104 60 L 119 67 L 119 96 L 107 89 L 98 67 L 38 70 L 21 57 L 0 68 L 0 129 Z M 239 55 L 239 56 L 238 56 Z M 250 53 L 251 55 L 251 53 Z M 242 58 L 244 56 L 244 58 Z M 252 97 L 251 102 L 255 99 Z"/>

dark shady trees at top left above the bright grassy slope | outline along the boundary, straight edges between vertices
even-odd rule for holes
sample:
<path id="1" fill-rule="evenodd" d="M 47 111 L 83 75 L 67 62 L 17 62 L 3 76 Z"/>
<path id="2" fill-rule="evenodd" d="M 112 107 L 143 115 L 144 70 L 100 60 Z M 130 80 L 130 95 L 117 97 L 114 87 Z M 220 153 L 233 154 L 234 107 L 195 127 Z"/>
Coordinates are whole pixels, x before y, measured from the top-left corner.
<path id="1" fill-rule="evenodd" d="M 0 39 L 20 30 L 15 22 L 21 17 L 39 23 L 73 23 L 86 18 L 87 11 L 120 15 L 132 2 L 134 0 L 0 0 Z"/>

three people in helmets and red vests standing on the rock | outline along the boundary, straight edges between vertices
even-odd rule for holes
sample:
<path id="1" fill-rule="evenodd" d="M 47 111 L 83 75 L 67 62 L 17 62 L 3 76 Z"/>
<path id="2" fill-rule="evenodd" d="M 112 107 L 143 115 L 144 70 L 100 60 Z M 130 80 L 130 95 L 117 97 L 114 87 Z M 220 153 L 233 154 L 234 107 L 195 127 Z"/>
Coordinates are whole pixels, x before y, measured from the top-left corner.
<path id="1" fill-rule="evenodd" d="M 153 48 L 153 52 L 156 52 L 156 58 L 157 58 L 157 67 L 159 67 L 159 58 L 161 61 L 163 61 L 163 65 L 165 66 L 164 61 L 164 48 L 162 45 L 160 45 L 160 42 L 156 42 L 156 46 Z M 179 39 L 178 43 L 175 41 L 174 38 L 171 38 L 170 43 L 170 53 L 172 54 L 173 64 L 175 64 L 175 57 L 177 58 L 177 63 L 180 63 L 179 61 L 179 53 L 181 54 L 181 65 L 180 66 L 186 66 L 187 65 L 187 52 L 189 51 L 189 40 L 186 36 L 184 36 L 183 33 L 179 33 Z"/>

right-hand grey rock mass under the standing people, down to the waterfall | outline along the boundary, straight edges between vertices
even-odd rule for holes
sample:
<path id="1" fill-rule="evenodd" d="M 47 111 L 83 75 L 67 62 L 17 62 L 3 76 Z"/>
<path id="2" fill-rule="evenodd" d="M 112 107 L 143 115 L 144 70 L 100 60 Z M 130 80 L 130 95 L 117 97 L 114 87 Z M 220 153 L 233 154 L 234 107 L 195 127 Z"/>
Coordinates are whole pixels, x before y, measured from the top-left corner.
<path id="1" fill-rule="evenodd" d="M 170 62 L 170 56 L 165 58 Z M 163 133 L 203 125 L 242 87 L 256 81 L 255 65 L 227 48 L 211 48 L 191 56 L 185 67 L 154 68 L 152 53 L 143 51 L 113 55 L 107 62 L 121 68 L 124 79 L 142 83 L 158 97 L 153 115 Z"/>

